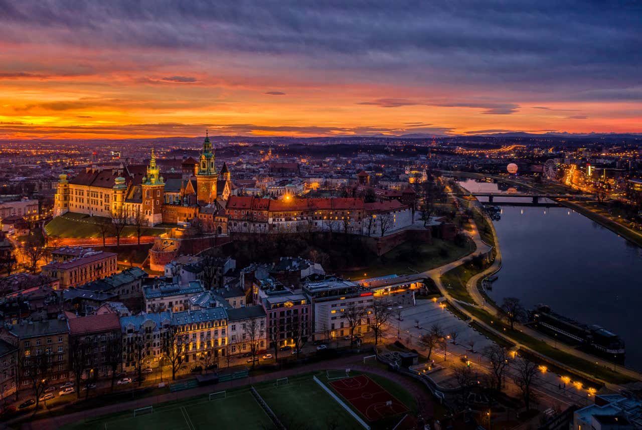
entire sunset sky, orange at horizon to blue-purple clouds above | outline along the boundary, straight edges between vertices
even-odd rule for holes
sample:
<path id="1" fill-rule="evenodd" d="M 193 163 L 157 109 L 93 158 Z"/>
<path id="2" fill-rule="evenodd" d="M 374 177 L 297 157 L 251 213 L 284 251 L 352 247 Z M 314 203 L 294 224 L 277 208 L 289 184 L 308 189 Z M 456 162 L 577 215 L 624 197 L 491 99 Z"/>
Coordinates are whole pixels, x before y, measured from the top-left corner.
<path id="1" fill-rule="evenodd" d="M 640 1 L 0 0 L 0 139 L 642 132 Z"/>

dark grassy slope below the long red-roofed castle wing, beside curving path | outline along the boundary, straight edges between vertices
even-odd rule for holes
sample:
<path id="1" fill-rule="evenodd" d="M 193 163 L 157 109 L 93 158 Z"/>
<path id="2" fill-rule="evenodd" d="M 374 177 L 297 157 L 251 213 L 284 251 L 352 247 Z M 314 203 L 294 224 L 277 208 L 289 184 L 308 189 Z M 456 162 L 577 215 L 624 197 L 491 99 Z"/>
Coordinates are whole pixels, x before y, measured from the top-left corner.
<path id="1" fill-rule="evenodd" d="M 433 243 L 406 242 L 386 252 L 372 263 L 358 270 L 344 271 L 347 279 L 364 279 L 384 275 L 404 275 L 434 269 L 451 261 L 458 260 L 474 251 L 474 243 L 469 241 L 464 247 L 449 241 L 433 239 Z"/>

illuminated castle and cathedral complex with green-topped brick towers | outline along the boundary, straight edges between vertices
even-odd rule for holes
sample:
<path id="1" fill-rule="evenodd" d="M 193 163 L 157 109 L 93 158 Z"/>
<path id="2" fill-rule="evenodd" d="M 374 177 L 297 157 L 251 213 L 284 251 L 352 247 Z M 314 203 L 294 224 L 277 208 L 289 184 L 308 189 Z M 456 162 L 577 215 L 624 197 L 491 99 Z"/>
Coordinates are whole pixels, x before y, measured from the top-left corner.
<path id="1" fill-rule="evenodd" d="M 232 191 L 232 178 L 223 163 L 216 169 L 214 150 L 205 137 L 198 160 L 182 160 L 180 169 L 161 174 L 152 150 L 150 163 L 117 169 L 86 168 L 74 178 L 60 175 L 54 214 L 76 212 L 89 216 L 124 218 L 127 223 L 153 227 L 160 223 L 183 223 L 199 218 L 205 230 L 221 226 L 225 202 Z M 219 216 L 220 215 L 220 216 Z"/>

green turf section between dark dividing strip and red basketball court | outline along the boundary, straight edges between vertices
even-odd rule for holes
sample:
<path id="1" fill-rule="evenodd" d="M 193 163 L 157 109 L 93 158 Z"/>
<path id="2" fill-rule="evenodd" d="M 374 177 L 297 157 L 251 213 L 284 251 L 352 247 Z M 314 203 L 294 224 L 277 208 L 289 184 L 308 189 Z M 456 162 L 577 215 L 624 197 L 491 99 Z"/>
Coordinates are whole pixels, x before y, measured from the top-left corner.
<path id="1" fill-rule="evenodd" d="M 325 372 L 317 377 L 327 386 L 324 381 Z M 311 374 L 296 379 L 290 377 L 288 384 L 279 387 L 275 386 L 274 381 L 270 381 L 255 385 L 254 388 L 288 428 L 304 426 L 311 430 L 325 430 L 329 419 L 333 418 L 341 429 L 363 429 L 336 400 L 315 383 Z"/>

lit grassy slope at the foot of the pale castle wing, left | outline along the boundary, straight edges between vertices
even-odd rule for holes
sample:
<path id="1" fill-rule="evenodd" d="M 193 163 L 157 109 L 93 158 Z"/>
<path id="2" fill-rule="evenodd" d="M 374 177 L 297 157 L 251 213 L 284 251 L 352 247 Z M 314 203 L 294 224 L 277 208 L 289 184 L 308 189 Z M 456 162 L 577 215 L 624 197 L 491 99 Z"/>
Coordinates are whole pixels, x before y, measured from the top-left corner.
<path id="1" fill-rule="evenodd" d="M 109 221 L 109 218 L 100 216 L 88 216 L 85 214 L 67 213 L 49 221 L 44 226 L 45 232 L 51 237 L 102 237 L 97 223 Z M 159 236 L 165 233 L 165 228 L 144 227 L 142 236 Z M 107 236 L 113 236 L 112 233 Z M 123 228 L 121 237 L 135 237 L 136 229 L 132 226 Z"/>

